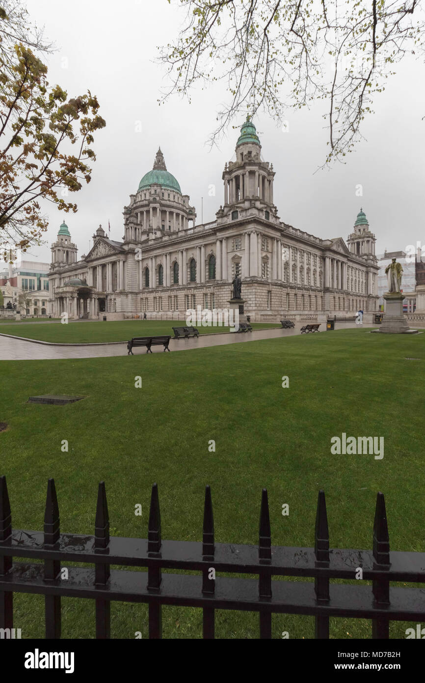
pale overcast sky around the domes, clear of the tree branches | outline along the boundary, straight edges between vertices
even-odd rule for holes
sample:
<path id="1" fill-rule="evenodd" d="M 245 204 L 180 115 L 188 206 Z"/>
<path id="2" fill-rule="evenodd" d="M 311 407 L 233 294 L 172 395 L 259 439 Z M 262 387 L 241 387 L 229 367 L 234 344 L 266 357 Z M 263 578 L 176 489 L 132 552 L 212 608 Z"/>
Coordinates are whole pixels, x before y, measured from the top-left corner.
<path id="1" fill-rule="evenodd" d="M 224 203 L 222 170 L 233 157 L 238 133 L 229 130 L 220 149 L 210 151 L 206 144 L 224 99 L 221 86 L 195 92 L 192 104 L 176 97 L 158 107 L 164 70 L 153 59 L 156 47 L 173 40 L 184 19 L 175 1 L 32 0 L 27 6 L 58 48 L 46 60 L 49 82 L 59 83 L 68 96 L 90 89 L 98 96 L 106 128 L 95 133 L 98 158 L 91 182 L 70 195 L 78 212 L 65 214 L 46 206 L 48 243 L 30 249 L 25 258 L 50 262 L 50 244 L 63 219 L 79 256 L 89 250 L 100 223 L 107 229 L 110 221 L 111 238 L 121 240 L 123 206 L 151 169 L 158 145 L 182 193 L 190 195 L 196 222 L 201 223 L 201 197 L 204 222 L 214 220 Z M 314 173 L 327 153 L 319 107 L 290 112 L 286 133 L 265 114 L 254 120 L 263 159 L 276 171 L 274 202 L 282 221 L 321 238 L 346 240 L 362 206 L 377 237 L 377 253 L 425 242 L 425 69 L 408 57 L 396 70 L 385 92 L 375 98 L 375 114 L 364 121 L 366 140 L 346 157 L 345 165 Z M 209 197 L 211 184 L 216 197 Z M 355 195 L 358 184 L 362 197 Z"/>

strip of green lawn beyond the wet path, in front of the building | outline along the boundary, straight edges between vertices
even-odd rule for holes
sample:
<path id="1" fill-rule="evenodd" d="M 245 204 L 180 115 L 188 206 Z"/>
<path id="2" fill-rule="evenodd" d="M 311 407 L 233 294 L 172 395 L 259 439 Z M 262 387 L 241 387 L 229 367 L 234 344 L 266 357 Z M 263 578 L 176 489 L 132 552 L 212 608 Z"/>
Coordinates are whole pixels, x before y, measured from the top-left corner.
<path id="1" fill-rule="evenodd" d="M 68 324 L 27 324 L 25 328 L 17 323 L 8 325 L 4 334 L 41 339 L 43 342 L 57 342 L 58 344 L 89 344 L 95 342 L 128 342 L 132 337 L 145 335 L 174 336 L 173 327 L 186 324 L 184 320 L 114 320 L 110 322 L 70 322 Z M 253 322 L 255 330 L 280 327 L 276 322 Z M 200 335 L 215 332 L 229 332 L 229 327 L 203 326 L 197 327 Z M 2 331 L 0 325 L 0 332 Z"/>

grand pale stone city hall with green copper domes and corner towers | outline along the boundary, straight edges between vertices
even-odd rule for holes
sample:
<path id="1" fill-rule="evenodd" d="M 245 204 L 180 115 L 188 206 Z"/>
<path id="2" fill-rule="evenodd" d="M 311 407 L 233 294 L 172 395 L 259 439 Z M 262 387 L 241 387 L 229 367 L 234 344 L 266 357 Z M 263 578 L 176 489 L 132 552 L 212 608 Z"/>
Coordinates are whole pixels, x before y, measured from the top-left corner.
<path id="1" fill-rule="evenodd" d="M 198 306 L 227 309 L 237 275 L 252 321 L 375 311 L 379 266 L 362 209 L 347 242 L 302 232 L 278 216 L 275 171 L 262 161 L 250 121 L 233 159 L 224 166 L 224 203 L 211 223 L 196 225 L 190 197 L 167 171 L 161 150 L 124 208 L 122 242 L 100 226 L 78 260 L 63 223 L 52 245 L 50 314 L 119 320 L 145 311 L 148 318 L 184 319 Z"/>

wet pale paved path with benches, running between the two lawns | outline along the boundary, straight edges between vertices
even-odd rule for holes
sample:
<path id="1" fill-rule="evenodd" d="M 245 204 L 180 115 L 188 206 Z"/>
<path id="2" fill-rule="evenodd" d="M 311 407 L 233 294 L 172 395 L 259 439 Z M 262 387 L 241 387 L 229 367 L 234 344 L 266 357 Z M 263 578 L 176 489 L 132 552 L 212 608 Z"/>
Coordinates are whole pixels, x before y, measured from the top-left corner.
<path id="1" fill-rule="evenodd" d="M 280 337 L 294 337 L 300 334 L 300 329 L 306 322 L 295 323 L 295 329 L 284 330 L 282 328 L 254 330 L 252 332 L 216 333 L 200 335 L 191 339 L 171 339 L 170 350 L 186 351 L 208 346 L 225 346 L 226 344 L 243 344 L 257 342 L 261 339 L 278 339 Z M 319 334 L 326 333 L 325 324 Z M 358 327 L 354 322 L 341 324 L 338 329 Z M 29 342 L 28 339 L 16 339 L 2 336 L 6 334 L 1 330 L 0 335 L 0 360 L 2 361 L 31 361 L 31 360 L 55 360 L 63 358 L 100 358 L 108 356 L 124 356 L 127 354 L 127 342 L 114 342 L 111 344 L 48 344 L 47 342 Z M 310 333 L 311 334 L 311 333 Z M 316 332 L 312 334 L 317 334 Z M 162 346 L 153 346 L 153 353 L 163 353 Z M 146 354 L 144 347 L 133 350 L 134 355 Z"/>

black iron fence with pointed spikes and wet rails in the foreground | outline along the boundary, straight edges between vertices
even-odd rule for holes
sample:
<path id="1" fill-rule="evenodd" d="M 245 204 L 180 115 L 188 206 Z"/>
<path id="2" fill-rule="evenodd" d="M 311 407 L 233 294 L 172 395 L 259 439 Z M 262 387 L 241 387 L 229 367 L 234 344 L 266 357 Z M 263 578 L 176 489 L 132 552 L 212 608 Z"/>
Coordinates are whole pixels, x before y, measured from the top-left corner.
<path id="1" fill-rule="evenodd" d="M 12 563 L 13 557 L 43 563 Z M 61 562 L 70 567 L 62 580 Z M 110 565 L 146 567 L 147 572 L 111 570 Z M 162 569 L 199 571 L 163 574 Z M 214 572 L 257 574 L 231 579 Z M 332 584 L 332 579 L 362 580 Z M 299 576 L 312 581 L 272 581 Z M 372 581 L 366 585 L 365 581 Z M 44 531 L 12 531 L 5 477 L 0 477 L 0 628 L 13 628 L 13 593 L 42 594 L 46 638 L 61 637 L 61 596 L 96 600 L 96 638 L 111 635 L 111 600 L 147 602 L 149 637 L 162 635 L 162 604 L 203 609 L 203 637 L 214 638 L 216 609 L 257 611 L 259 635 L 272 637 L 272 613 L 313 615 L 316 638 L 329 638 L 329 617 L 372 619 L 372 637 L 389 637 L 390 620 L 421 621 L 425 591 L 390 587 L 390 582 L 425 583 L 425 553 L 390 552 L 382 493 L 377 494 L 372 550 L 329 548 L 325 494 L 319 491 L 314 548 L 272 546 L 267 490 L 261 497 L 258 546 L 216 543 L 209 486 L 205 490 L 202 542 L 163 541 L 158 487 L 153 484 L 147 539 L 109 535 L 108 505 L 100 482 L 93 536 L 59 531 L 53 479 L 48 481 Z"/>

